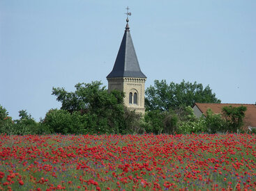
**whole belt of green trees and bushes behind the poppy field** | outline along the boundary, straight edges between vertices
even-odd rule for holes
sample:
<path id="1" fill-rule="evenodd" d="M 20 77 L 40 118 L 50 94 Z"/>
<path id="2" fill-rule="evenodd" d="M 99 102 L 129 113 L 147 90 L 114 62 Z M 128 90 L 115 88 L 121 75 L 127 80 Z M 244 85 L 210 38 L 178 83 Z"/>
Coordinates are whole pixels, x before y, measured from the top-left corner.
<path id="1" fill-rule="evenodd" d="M 100 81 L 77 83 L 74 92 L 52 88 L 62 103 L 61 109 L 50 109 L 36 122 L 27 110 L 13 120 L 0 105 L 0 134 L 127 134 L 127 133 L 225 133 L 243 132 L 246 107 L 224 107 L 222 114 L 207 110 L 197 118 L 192 106 L 196 102 L 220 103 L 209 87 L 201 83 L 155 81 L 146 89 L 146 113 L 129 110 L 123 104 L 124 93 L 108 92 Z"/>

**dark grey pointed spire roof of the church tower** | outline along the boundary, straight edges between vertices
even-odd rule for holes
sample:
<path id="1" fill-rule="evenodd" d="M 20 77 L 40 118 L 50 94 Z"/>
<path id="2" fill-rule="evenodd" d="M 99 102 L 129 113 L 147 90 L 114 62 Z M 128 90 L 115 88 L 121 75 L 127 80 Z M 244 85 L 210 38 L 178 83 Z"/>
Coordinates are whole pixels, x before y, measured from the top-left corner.
<path id="1" fill-rule="evenodd" d="M 133 40 L 130 35 L 130 28 L 128 26 L 129 20 L 127 19 L 126 21 L 126 31 L 124 32 L 123 40 L 121 42 L 119 52 L 117 53 L 112 72 L 108 74 L 107 78 L 146 78 L 146 76 L 140 70 L 140 65 L 133 46 Z"/>

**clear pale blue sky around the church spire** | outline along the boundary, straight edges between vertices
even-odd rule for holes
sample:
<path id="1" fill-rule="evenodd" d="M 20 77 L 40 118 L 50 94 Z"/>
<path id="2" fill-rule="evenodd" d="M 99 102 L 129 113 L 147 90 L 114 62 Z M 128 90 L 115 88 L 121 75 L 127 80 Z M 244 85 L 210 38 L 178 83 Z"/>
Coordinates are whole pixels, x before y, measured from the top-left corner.
<path id="1" fill-rule="evenodd" d="M 61 103 L 52 87 L 102 81 L 130 12 L 146 87 L 210 85 L 222 103 L 256 101 L 255 0 L 0 0 L 0 104 L 39 120 Z"/>

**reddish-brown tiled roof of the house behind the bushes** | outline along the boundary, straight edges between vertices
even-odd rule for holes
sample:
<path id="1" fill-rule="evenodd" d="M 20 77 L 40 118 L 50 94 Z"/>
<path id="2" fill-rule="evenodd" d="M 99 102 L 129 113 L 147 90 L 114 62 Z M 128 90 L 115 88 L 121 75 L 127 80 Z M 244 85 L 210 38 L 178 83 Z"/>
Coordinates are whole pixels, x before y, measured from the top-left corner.
<path id="1" fill-rule="evenodd" d="M 242 103 L 195 103 L 195 106 L 205 115 L 207 109 L 211 108 L 213 113 L 221 114 L 225 106 L 239 107 L 246 106 L 246 117 L 244 117 L 245 126 L 256 127 L 256 106 L 255 104 L 242 104 Z"/>

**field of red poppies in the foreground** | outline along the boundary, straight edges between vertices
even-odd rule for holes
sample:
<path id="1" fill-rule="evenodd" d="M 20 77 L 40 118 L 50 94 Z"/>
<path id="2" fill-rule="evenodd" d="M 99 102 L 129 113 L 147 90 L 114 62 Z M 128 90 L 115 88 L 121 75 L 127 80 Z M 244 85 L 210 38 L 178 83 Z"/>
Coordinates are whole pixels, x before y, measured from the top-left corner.
<path id="1" fill-rule="evenodd" d="M 0 190 L 256 190 L 256 135 L 1 135 Z"/>

